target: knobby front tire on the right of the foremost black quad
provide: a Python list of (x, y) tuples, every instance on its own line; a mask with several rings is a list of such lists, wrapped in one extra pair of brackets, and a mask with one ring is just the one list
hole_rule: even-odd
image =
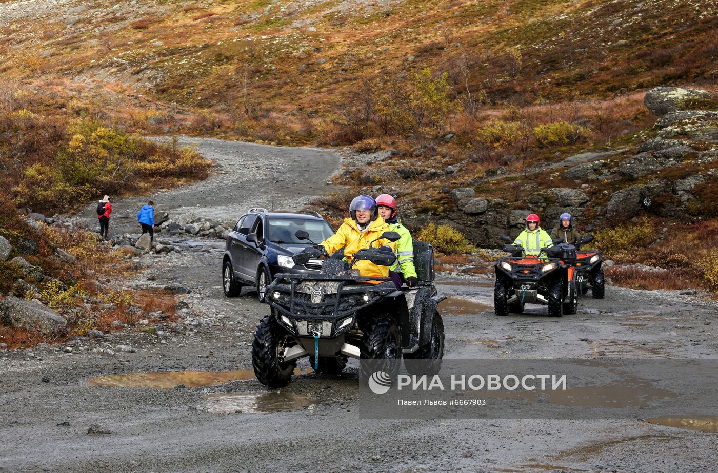
[[(373, 368), (378, 368), (391, 378), (396, 378), (401, 365), (401, 332), (396, 319), (382, 315), (371, 320), (364, 329), (364, 338), (360, 347), (362, 360), (385, 360)], [(360, 363), (362, 374), (368, 380), (374, 373), (366, 363)]]

